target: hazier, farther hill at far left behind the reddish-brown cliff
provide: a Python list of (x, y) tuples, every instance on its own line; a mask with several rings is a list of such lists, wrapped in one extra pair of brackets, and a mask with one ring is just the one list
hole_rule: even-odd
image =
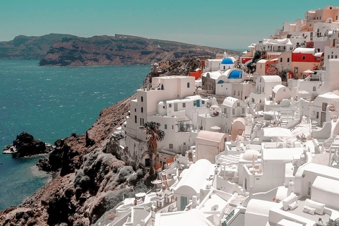
[(72, 35), (49, 34), (30, 37), (19, 35), (14, 40), (0, 42), (0, 59), (42, 59), (49, 47), (63, 37)]

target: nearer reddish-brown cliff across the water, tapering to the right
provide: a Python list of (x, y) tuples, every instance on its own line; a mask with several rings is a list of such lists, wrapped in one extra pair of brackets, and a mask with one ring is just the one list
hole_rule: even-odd
[[(40, 66), (154, 64), (190, 57), (215, 57), (224, 49), (129, 35), (68, 37), (56, 42)], [(227, 50), (229, 54), (239, 52)]]

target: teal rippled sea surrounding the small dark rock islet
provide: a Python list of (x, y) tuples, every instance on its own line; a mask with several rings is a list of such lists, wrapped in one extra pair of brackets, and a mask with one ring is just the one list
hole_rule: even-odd
[[(136, 93), (151, 66), (38, 66), (0, 60), (0, 150), (23, 131), (47, 143), (83, 134), (100, 110)], [(16, 206), (50, 177), (35, 163), (0, 153), (0, 210)]]

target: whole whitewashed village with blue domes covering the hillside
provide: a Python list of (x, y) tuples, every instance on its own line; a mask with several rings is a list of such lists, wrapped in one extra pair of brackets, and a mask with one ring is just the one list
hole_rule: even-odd
[[(310, 10), (242, 57), (153, 77), (112, 134), (150, 167), (108, 225), (326, 225), (339, 218), (339, 7)], [(153, 71), (157, 71), (157, 64)], [(146, 121), (165, 137), (150, 161)]]

